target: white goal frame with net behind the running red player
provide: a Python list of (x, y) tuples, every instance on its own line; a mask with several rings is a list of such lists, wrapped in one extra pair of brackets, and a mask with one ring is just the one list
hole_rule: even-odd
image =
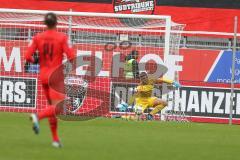
[[(24, 53), (33, 36), (45, 30), (42, 21), (48, 12), (0, 9), (1, 111), (39, 112), (47, 106), (39, 66), (25, 66)], [(126, 69), (131, 54), (136, 52), (138, 72), (146, 71), (155, 78), (167, 72), (168, 78), (177, 78), (178, 73), (169, 69), (168, 62), (178, 55), (184, 25), (172, 22), (170, 16), (54, 13), (58, 16), (57, 30), (69, 36), (77, 55), (76, 68), (63, 62), (66, 113), (120, 113), (119, 104), (128, 101), (139, 83)], [(74, 74), (69, 75), (71, 71)], [(153, 93), (159, 98), (161, 88), (156, 86)], [(131, 106), (127, 112), (133, 112)]]

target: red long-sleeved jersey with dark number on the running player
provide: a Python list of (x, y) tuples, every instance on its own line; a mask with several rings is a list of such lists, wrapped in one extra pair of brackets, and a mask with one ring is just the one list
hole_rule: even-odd
[(54, 70), (62, 65), (64, 53), (68, 59), (75, 57), (72, 48), (68, 45), (68, 37), (55, 29), (46, 30), (34, 36), (25, 58), (34, 62), (32, 55), (39, 52), (40, 78), (42, 83), (48, 83), (49, 77)]

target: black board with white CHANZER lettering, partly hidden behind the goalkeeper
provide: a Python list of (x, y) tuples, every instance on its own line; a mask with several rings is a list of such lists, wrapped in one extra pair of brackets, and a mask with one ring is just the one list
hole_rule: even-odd
[[(137, 83), (112, 83), (110, 111), (119, 112), (117, 106), (125, 103), (135, 93)], [(189, 116), (229, 117), (231, 90), (213, 87), (185, 86), (168, 93), (167, 110), (183, 111)], [(173, 97), (175, 95), (175, 97)], [(152, 96), (162, 97), (162, 87), (155, 86)], [(165, 98), (163, 98), (165, 99)], [(240, 90), (234, 93), (233, 117), (240, 117)], [(129, 112), (133, 106), (129, 106)]]

